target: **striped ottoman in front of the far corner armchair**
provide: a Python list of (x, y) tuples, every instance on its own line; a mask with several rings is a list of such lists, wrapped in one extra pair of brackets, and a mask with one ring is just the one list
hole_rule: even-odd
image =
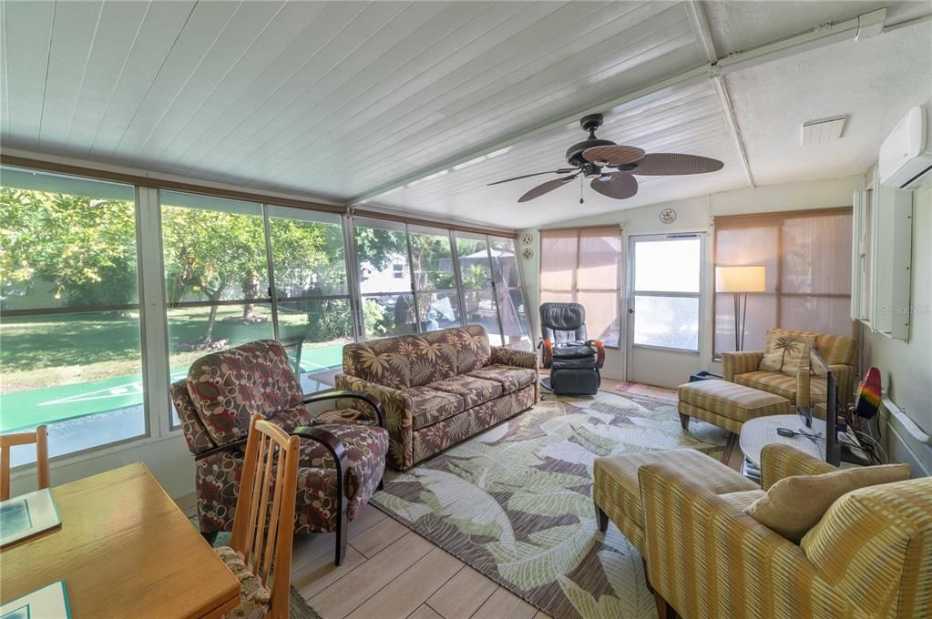
[(741, 424), (765, 415), (792, 415), (796, 407), (786, 398), (728, 381), (680, 384), (677, 390), (679, 423), (690, 429), (690, 417), (741, 433)]

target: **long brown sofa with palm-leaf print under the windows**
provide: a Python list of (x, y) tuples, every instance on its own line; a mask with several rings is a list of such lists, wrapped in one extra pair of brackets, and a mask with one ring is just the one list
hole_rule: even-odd
[(348, 343), (336, 388), (381, 400), (388, 463), (404, 470), (533, 406), (538, 363), (534, 353), (490, 346), (482, 326), (468, 325)]

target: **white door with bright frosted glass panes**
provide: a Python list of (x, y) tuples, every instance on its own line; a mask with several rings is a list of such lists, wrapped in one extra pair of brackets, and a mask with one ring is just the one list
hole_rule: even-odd
[(627, 380), (676, 387), (699, 370), (705, 235), (632, 235)]

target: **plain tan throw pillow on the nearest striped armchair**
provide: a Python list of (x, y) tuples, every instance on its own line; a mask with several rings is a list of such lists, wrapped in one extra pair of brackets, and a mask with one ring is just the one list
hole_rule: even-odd
[(818, 524), (831, 504), (850, 491), (910, 478), (909, 464), (861, 466), (823, 473), (797, 475), (777, 481), (744, 512), (773, 532), (799, 544)]

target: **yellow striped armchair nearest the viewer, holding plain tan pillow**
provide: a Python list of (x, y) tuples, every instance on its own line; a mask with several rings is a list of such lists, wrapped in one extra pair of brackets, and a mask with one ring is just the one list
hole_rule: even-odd
[(796, 545), (742, 509), (781, 478), (834, 468), (787, 445), (768, 445), (761, 460), (763, 490), (731, 494), (664, 464), (640, 468), (648, 579), (662, 612), (932, 616), (932, 478), (848, 492)]

